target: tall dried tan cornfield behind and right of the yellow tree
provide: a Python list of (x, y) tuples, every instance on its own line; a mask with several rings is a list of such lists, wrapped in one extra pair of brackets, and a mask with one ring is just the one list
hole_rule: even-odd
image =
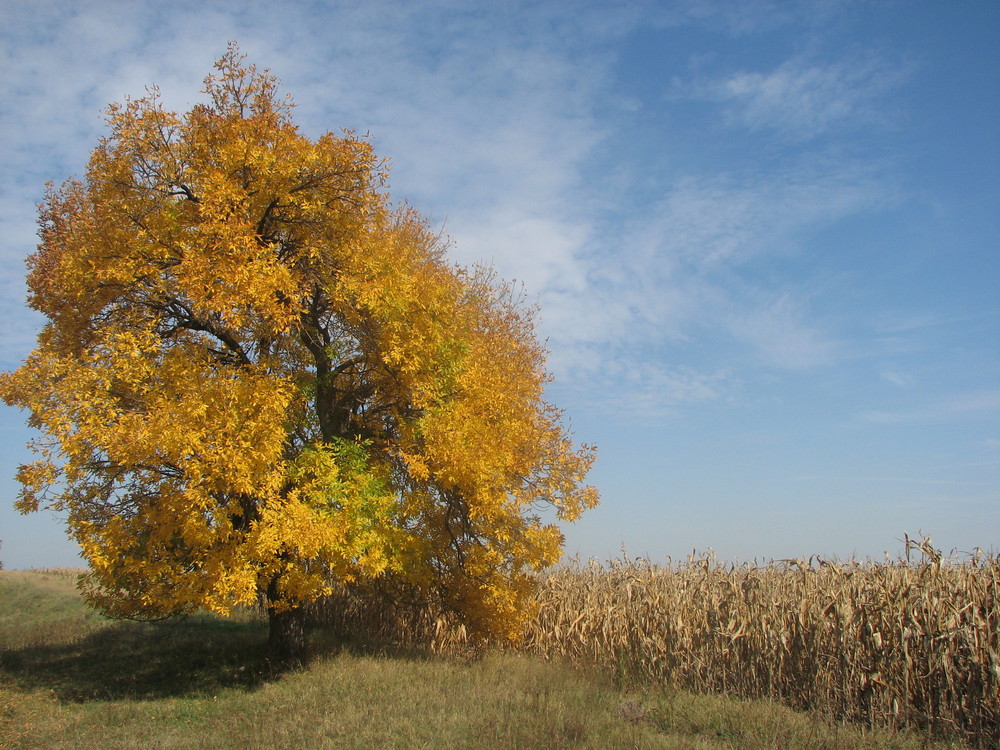
[[(914, 553), (917, 553), (914, 559)], [(521, 648), (628, 679), (770, 698), (1000, 747), (1000, 555), (906, 539), (883, 562), (712, 556), (571, 565), (539, 580)], [(453, 618), (342, 592), (316, 615), (374, 640), (468, 645)]]

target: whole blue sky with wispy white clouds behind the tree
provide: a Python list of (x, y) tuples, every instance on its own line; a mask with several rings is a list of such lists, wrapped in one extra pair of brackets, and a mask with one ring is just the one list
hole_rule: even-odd
[[(310, 137), (540, 307), (602, 503), (566, 553), (1000, 552), (1000, 3), (0, 2), (0, 370), (44, 184), (111, 102), (187, 111), (235, 40)], [(12, 508), (0, 561), (80, 565)]]

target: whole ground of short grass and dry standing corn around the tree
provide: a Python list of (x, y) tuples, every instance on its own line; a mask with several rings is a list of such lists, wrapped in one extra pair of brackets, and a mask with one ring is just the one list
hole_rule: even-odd
[(340, 599), (275, 674), (258, 613), (112, 623), (6, 571), (0, 747), (990, 747), (997, 587), (996, 558), (578, 565), (516, 652)]

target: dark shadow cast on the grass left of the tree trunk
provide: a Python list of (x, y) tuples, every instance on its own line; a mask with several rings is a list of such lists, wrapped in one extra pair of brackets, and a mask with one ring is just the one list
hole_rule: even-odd
[(0, 651), (0, 680), (67, 702), (211, 695), (280, 676), (266, 645), (265, 624), (212, 615), (111, 623), (71, 643)]

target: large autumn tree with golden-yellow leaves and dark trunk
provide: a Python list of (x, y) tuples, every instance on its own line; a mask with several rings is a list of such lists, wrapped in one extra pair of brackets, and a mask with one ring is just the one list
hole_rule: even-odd
[(352, 133), (316, 141), (231, 45), (181, 116), (108, 109), (49, 186), (47, 318), (0, 396), (40, 437), (17, 507), (65, 511), (88, 600), (159, 618), (266, 600), (272, 655), (335, 583), (435, 598), (511, 636), (594, 450), (548, 405), (534, 308), (446, 260)]

